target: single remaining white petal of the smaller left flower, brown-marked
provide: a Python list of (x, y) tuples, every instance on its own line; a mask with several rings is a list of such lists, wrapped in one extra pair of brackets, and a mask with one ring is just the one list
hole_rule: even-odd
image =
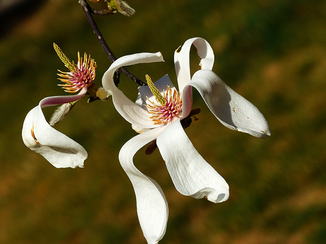
[(87, 152), (76, 141), (51, 127), (41, 108), (77, 101), (86, 91), (87, 88), (83, 88), (78, 95), (45, 97), (24, 120), (22, 140), (25, 145), (57, 168), (83, 167)]

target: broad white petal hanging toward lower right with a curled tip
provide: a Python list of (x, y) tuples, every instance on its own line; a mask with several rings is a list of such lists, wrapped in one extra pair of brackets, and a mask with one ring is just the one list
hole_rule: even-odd
[(213, 203), (228, 199), (226, 181), (196, 151), (176, 120), (156, 140), (176, 189), (196, 199), (206, 197)]

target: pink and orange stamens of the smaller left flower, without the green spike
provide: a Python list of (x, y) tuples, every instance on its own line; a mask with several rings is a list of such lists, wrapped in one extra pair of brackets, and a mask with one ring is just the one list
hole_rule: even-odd
[(70, 72), (60, 71), (62, 74), (58, 74), (60, 81), (66, 83), (62, 86), (66, 92), (77, 92), (83, 87), (89, 87), (95, 79), (96, 72), (96, 62), (94, 59), (87, 58), (86, 53), (84, 54), (84, 60), (80, 57), (78, 53), (78, 63), (73, 63), (74, 69), (69, 67)]

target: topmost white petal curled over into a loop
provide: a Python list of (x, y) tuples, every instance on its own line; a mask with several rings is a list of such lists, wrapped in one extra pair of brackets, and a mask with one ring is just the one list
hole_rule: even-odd
[(174, 66), (178, 79), (179, 91), (188, 85), (191, 80), (190, 77), (190, 62), (189, 54), (190, 48), (194, 45), (197, 50), (197, 55), (200, 58), (201, 69), (211, 69), (214, 64), (214, 52), (209, 43), (200, 37), (191, 38), (184, 42), (181, 50), (174, 53)]

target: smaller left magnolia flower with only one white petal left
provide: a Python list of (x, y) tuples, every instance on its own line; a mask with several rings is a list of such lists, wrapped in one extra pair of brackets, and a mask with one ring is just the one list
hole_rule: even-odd
[(83, 167), (84, 160), (87, 158), (86, 150), (76, 141), (55, 130), (46, 121), (42, 108), (48, 106), (61, 105), (54, 113), (50, 124), (54, 125), (60, 121), (64, 115), (72, 108), (81, 97), (83, 97), (87, 88), (92, 85), (95, 79), (96, 63), (94, 60), (84, 55), (82, 59), (78, 53), (77, 65), (70, 61), (54, 43), (55, 50), (69, 69), (69, 72), (58, 74), (65, 84), (62, 86), (66, 92), (77, 92), (77, 95), (51, 96), (41, 100), (26, 116), (22, 126), (22, 140), (31, 150), (42, 155), (53, 166), (57, 168), (77, 166)]

